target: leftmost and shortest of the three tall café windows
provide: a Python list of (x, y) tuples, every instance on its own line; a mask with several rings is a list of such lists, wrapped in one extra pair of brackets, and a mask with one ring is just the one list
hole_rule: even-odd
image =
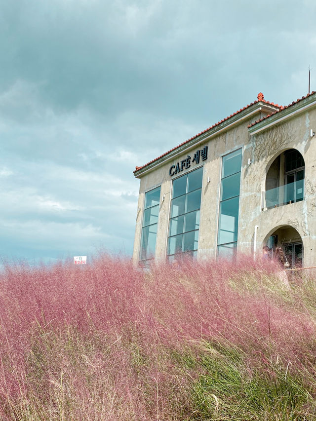
[(140, 260), (155, 257), (158, 215), (159, 215), (160, 187), (145, 193), (145, 207), (140, 245)]

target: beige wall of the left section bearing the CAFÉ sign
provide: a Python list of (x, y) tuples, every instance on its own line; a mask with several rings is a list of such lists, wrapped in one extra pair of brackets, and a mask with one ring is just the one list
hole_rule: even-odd
[[(260, 115), (258, 113), (258, 115), (255, 115), (252, 120), (259, 118), (259, 116)], [(252, 120), (249, 119), (243, 121), (242, 124), (235, 126), (231, 130), (215, 136), (209, 141), (193, 146), (191, 149), (177, 155), (173, 160), (170, 160), (157, 169), (150, 171), (141, 178), (138, 200), (138, 209), (140, 209), (140, 211), (137, 212), (133, 254), (133, 260), (135, 263), (139, 258), (145, 192), (161, 186), (155, 257), (157, 260), (164, 260), (167, 248), (172, 180), (199, 168), (201, 165), (204, 166), (204, 169), (201, 194), (198, 257), (214, 257), (216, 255), (222, 156), (239, 148), (244, 149), (245, 142), (248, 141), (247, 125)], [(200, 160), (198, 165), (191, 164), (190, 168), (187, 170), (184, 169), (181, 173), (174, 176), (169, 175), (171, 165), (175, 165), (177, 162), (185, 159), (188, 154), (193, 157), (194, 153), (198, 149), (203, 149), (204, 146), (208, 147), (207, 160)], [(245, 159), (248, 159), (247, 153), (245, 156)], [(207, 182), (208, 179), (209, 182)], [(163, 196), (164, 200), (162, 200)]]

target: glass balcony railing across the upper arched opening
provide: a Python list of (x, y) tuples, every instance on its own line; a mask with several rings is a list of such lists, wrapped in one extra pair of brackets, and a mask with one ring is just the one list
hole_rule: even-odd
[(288, 205), (304, 199), (304, 179), (266, 191), (266, 207)]

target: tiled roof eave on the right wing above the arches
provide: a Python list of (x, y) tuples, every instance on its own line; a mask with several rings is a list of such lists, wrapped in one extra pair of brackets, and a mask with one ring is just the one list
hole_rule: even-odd
[(275, 124), (280, 123), (281, 121), (294, 117), (308, 109), (316, 106), (316, 92), (313, 91), (310, 94), (298, 99), (292, 104), (289, 104), (286, 107), (283, 107), (280, 110), (276, 110), (274, 113), (263, 117), (261, 120), (255, 121), (254, 123), (248, 126), (248, 131), (250, 134), (254, 135), (263, 130), (268, 129)]

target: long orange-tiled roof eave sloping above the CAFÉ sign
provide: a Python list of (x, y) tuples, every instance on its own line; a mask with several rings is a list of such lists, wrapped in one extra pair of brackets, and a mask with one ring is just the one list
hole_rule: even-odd
[(149, 171), (152, 171), (154, 168), (164, 164), (165, 162), (172, 160), (175, 155), (178, 155), (179, 153), (185, 153), (186, 150), (191, 149), (193, 146), (204, 142), (211, 137), (217, 136), (226, 130), (229, 130), (231, 126), (240, 123), (241, 121), (259, 113), (260, 111), (271, 114), (278, 109), (279, 107), (277, 105), (269, 103), (268, 101), (256, 101), (244, 109), (238, 111), (237, 113), (225, 118), (221, 122), (214, 124), (209, 129), (198, 133), (196, 136), (183, 142), (170, 151), (158, 156), (158, 158), (154, 159), (153, 161), (143, 165), (142, 167), (136, 167), (134, 176), (136, 178), (140, 178), (141, 176), (145, 175), (145, 173), (148, 173)]

